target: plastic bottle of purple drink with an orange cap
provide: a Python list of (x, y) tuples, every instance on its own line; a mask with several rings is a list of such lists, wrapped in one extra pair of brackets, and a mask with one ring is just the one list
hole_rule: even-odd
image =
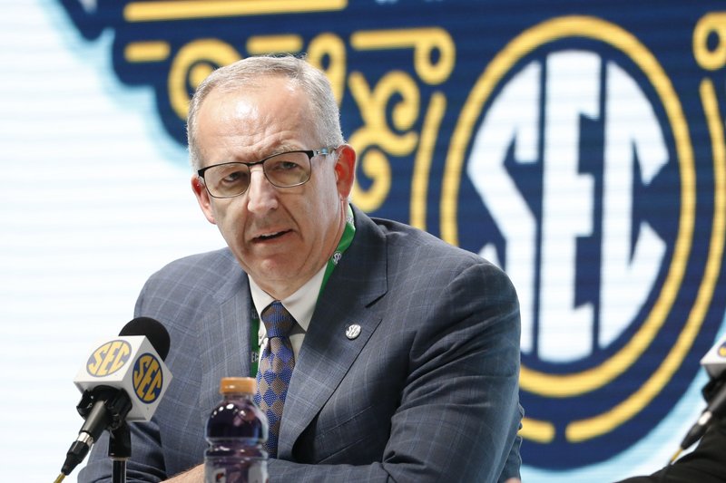
[(268, 421), (252, 400), (255, 391), (250, 377), (222, 378), (223, 399), (207, 420), (206, 483), (267, 483)]

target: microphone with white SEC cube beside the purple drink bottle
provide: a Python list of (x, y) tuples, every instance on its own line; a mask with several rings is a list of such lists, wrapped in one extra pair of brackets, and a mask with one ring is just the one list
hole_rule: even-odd
[(77, 410), (85, 422), (68, 449), (62, 475), (71, 474), (83, 461), (103, 430), (152, 419), (172, 381), (163, 362), (169, 345), (169, 333), (160, 322), (137, 317), (118, 337), (96, 346), (74, 379), (83, 392)]

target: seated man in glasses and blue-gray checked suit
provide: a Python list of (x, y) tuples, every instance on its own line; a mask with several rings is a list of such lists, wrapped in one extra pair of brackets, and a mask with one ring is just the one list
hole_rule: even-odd
[[(162, 268), (139, 296), (136, 315), (169, 330), (174, 379), (132, 424), (129, 480), (201, 481), (220, 379), (254, 377), (273, 301), (296, 324), (270, 481), (518, 477), (515, 289), (479, 256), (348, 204), (356, 154), (325, 75), (289, 56), (233, 63), (201, 84), (188, 130), (191, 187), (228, 247)], [(109, 478), (106, 448), (81, 481)]]

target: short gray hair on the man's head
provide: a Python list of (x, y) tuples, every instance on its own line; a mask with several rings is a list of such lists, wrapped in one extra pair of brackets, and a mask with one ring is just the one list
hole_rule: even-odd
[(292, 55), (248, 57), (211, 72), (191, 98), (187, 115), (187, 140), (191, 167), (194, 170), (201, 168), (201, 152), (196, 133), (197, 115), (204, 99), (216, 89), (231, 92), (245, 86), (259, 87), (264, 85), (265, 78), (274, 76), (287, 77), (297, 82), (302, 92), (307, 94), (310, 117), (315, 123), (320, 142), (326, 147), (337, 147), (345, 142), (340, 130), (338, 102), (323, 72), (303, 58)]

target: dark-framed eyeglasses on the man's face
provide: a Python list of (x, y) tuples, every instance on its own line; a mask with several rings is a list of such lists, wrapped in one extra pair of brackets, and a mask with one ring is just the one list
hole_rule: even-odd
[(265, 178), (278, 188), (292, 188), (310, 179), (310, 159), (320, 154), (330, 154), (335, 148), (319, 150), (295, 150), (274, 154), (252, 163), (229, 162), (215, 164), (197, 171), (204, 186), (213, 198), (238, 197), (250, 188), (250, 168), (262, 165)]

